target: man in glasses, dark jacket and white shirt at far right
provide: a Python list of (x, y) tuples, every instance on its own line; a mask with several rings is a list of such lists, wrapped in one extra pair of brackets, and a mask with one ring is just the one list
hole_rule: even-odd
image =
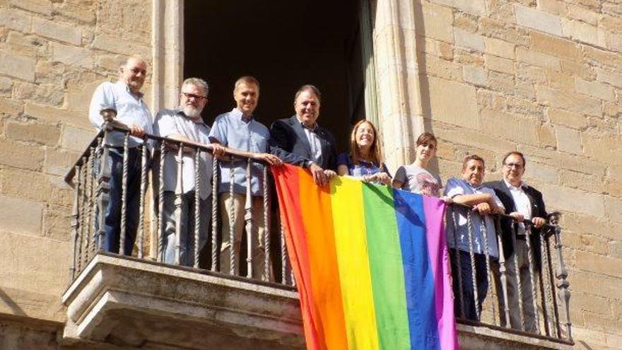
[[(518, 279), (520, 278), (524, 330), (535, 333), (537, 332), (537, 325), (533, 291), (534, 284), (538, 283), (537, 272), (541, 268), (540, 234), (542, 226), (546, 224), (547, 214), (542, 194), (534, 187), (522, 182), (524, 170), (525, 160), (522, 153), (517, 151), (507, 153), (503, 158), (503, 180), (487, 182), (484, 185), (495, 190), (495, 194), (505, 207), (505, 214), (514, 218), (514, 220), (502, 218), (500, 222), (503, 256), (505, 257), (507, 272), (510, 325), (515, 329), (523, 329), (518, 303)], [(532, 248), (532, 262), (535, 272), (534, 284), (532, 284), (532, 276), (529, 272), (529, 249), (523, 220), (531, 221), (533, 226), (529, 243)], [(503, 293), (500, 293), (500, 296), (503, 296)], [(502, 297), (500, 298), (503, 300)], [(502, 325), (505, 324), (505, 315), (503, 315), (501, 323)]]

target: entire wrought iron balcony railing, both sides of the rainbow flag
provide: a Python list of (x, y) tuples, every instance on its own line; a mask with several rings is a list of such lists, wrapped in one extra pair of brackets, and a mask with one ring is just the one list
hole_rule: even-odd
[[(128, 177), (128, 151), (129, 151), (129, 129), (125, 127), (118, 127), (113, 124), (105, 124), (105, 127), (99, 132), (93, 141), (88, 145), (84, 153), (78, 158), (75, 165), (65, 177), (65, 181), (74, 187), (74, 206), (71, 213), (71, 237), (72, 237), (72, 259), (71, 267), (69, 271), (69, 277), (71, 281), (74, 281), (78, 274), (86, 267), (90, 259), (92, 259), (98, 251), (102, 249), (103, 240), (105, 238), (104, 231), (104, 215), (103, 213), (110, 202), (110, 167), (107, 166), (109, 161), (110, 147), (104, 142), (106, 134), (110, 132), (122, 132), (124, 133), (124, 150), (123, 150), (123, 181), (122, 181), (122, 218), (121, 218), (121, 230), (119, 235), (119, 254), (124, 254), (125, 239), (127, 236), (126, 226), (126, 212), (127, 212), (127, 177)], [(153, 136), (146, 134), (143, 136), (143, 143), (138, 146), (141, 155), (141, 174), (140, 174), (140, 199), (139, 199), (139, 225), (136, 233), (136, 243), (132, 251), (132, 255), (138, 259), (153, 259), (159, 262), (163, 262), (163, 239), (165, 237), (164, 225), (163, 225), (163, 205), (164, 205), (164, 187), (165, 177), (162, 170), (165, 167), (165, 155), (169, 152), (177, 152), (177, 183), (175, 184), (175, 218), (177, 227), (175, 228), (177, 235), (175, 236), (175, 259), (174, 264), (182, 263), (180, 259), (180, 214), (182, 209), (182, 171), (184, 162), (184, 152), (194, 153), (194, 162), (199, 164), (199, 157), (201, 153), (212, 153), (212, 148), (203, 144), (196, 144), (187, 141), (177, 141), (174, 139), (168, 139), (160, 136)], [(176, 148), (176, 149), (175, 149)], [(153, 156), (153, 159), (150, 158)], [(218, 184), (219, 184), (219, 172), (218, 164), (221, 162), (230, 161), (243, 161), (245, 163), (245, 180), (249, 184), (246, 186), (246, 202), (245, 202), (245, 231), (247, 233), (252, 232), (252, 193), (251, 193), (251, 180), (252, 180), (252, 164), (260, 163), (250, 158), (250, 153), (236, 151), (233, 149), (225, 148), (225, 156), (221, 158), (213, 158), (213, 178), (212, 183), (207, 184), (204, 179), (201, 178), (201, 171), (199, 166), (195, 166), (194, 170), (194, 191), (199, 194), (200, 189), (204, 185), (211, 185), (212, 187), (212, 199), (211, 199), (211, 250), (209, 251), (210, 262), (208, 265), (201, 266), (199, 259), (199, 235), (201, 235), (200, 222), (196, 222), (194, 225), (194, 246), (192, 247), (192, 264), (190, 267), (202, 268), (209, 270), (213, 273), (220, 273), (225, 275), (235, 274), (235, 265), (240, 264), (245, 266), (246, 273), (245, 278), (254, 279), (260, 281), (276, 281), (278, 284), (287, 286), (294, 286), (295, 281), (291, 269), (288, 267), (288, 257), (286, 246), (283, 239), (283, 230), (278, 218), (278, 209), (271, 207), (271, 193), (269, 186), (269, 174), (267, 166), (262, 168), (262, 202), (264, 216), (264, 258), (262, 262), (262, 271), (260, 276), (257, 272), (253, 274), (253, 250), (252, 250), (252, 235), (246, 235), (246, 259), (242, 261), (240, 257), (236, 256), (235, 249), (230, 249), (230, 255), (228, 256), (228, 271), (221, 271), (220, 259), (223, 259), (219, 250), (221, 249), (221, 243), (225, 235), (228, 235), (230, 243), (234, 241), (233, 223), (230, 225), (230, 231), (228, 233), (221, 232), (218, 221)], [(159, 165), (159, 166), (158, 166)], [(230, 167), (232, 169), (232, 167)], [(233, 170), (231, 170), (233, 171)], [(151, 183), (153, 191), (151, 191), (152, 200), (148, 201), (148, 188), (149, 188), (149, 175), (151, 175)], [(232, 174), (230, 174), (232, 175)], [(233, 176), (231, 176), (233, 177)], [(230, 181), (229, 194), (233, 197), (234, 187), (233, 180)], [(199, 214), (200, 208), (200, 196), (195, 195), (194, 203), (194, 216), (196, 221), (201, 220)], [(153, 205), (148, 205), (151, 202)], [(233, 203), (233, 201), (232, 201)], [(457, 211), (462, 204), (452, 204), (448, 209), (450, 211), (449, 219), (446, 225), (453, 225), (457, 228), (456, 216), (454, 211)], [(472, 221), (474, 216), (479, 216), (468, 206), (463, 206), (462, 209), (468, 209), (464, 211), (467, 216), (468, 236), (469, 236), (469, 251), (465, 252), (470, 260), (472, 273), (472, 284), (468, 286), (462, 283), (462, 276), (458, 272), (454, 272), (454, 284), (459, 286), (459, 292), (455, 296), (456, 302), (459, 303), (457, 307), (457, 321), (467, 325), (486, 326), (503, 330), (504, 332), (513, 332), (517, 334), (527, 335), (528, 337), (538, 337), (541, 339), (554, 340), (556, 342), (563, 342), (573, 344), (570, 313), (569, 313), (569, 299), (570, 291), (568, 290), (568, 271), (565, 268), (563, 261), (562, 243), (561, 243), (561, 228), (558, 226), (558, 213), (551, 214), (549, 218), (549, 224), (539, 231), (539, 245), (541, 246), (541, 268), (536, 269), (534, 266), (534, 256), (532, 256), (532, 241), (530, 236), (532, 233), (532, 223), (524, 221), (525, 234), (527, 235), (526, 243), (528, 245), (528, 264), (529, 264), (529, 284), (532, 288), (523, 291), (522, 284), (526, 284), (527, 281), (522, 281), (520, 274), (517, 274), (516, 284), (517, 288), (517, 305), (519, 310), (512, 310), (512, 300), (507, 293), (507, 285), (514, 278), (507, 274), (507, 264), (503, 254), (503, 241), (499, 239), (499, 222), (500, 219), (510, 218), (509, 216), (495, 214), (495, 232), (486, 232), (486, 226), (482, 228), (482, 233), (485, 237), (483, 240), (483, 255), (486, 266), (486, 281), (488, 282), (488, 293), (486, 301), (481, 307), (477, 307), (475, 319), (464, 317), (464, 288), (473, 288), (474, 300), (478, 300), (478, 288), (476, 285), (476, 253), (474, 251), (474, 237)], [(233, 221), (233, 208), (230, 208), (230, 221)], [(151, 217), (147, 218), (147, 214), (151, 213)], [(273, 215), (276, 214), (276, 215)], [(483, 222), (483, 220), (480, 220)], [(147, 223), (151, 227), (151, 230), (147, 229)], [(514, 229), (515, 226), (512, 226)], [(272, 232), (276, 231), (275, 236)], [(457, 230), (456, 230), (457, 232)], [(491, 256), (491, 247), (488, 246), (488, 235), (494, 235), (496, 242), (498, 243), (498, 259)], [(277, 242), (274, 244), (274, 242)], [(450, 247), (457, 247), (456, 242)], [(553, 261), (553, 250), (555, 250), (556, 261)], [(271, 251), (271, 246), (277, 247), (275, 252)], [(450, 249), (451, 250), (451, 249)], [(208, 254), (208, 252), (204, 252)], [(460, 254), (451, 254), (456, 266), (460, 266)], [(274, 259), (273, 259), (274, 258)], [(510, 256), (513, 259), (513, 264), (517, 265), (517, 254)], [(244, 264), (245, 262), (245, 264)], [(243, 269), (242, 269), (243, 270)], [(524, 298), (524, 293), (530, 293), (532, 298)], [(529, 308), (534, 310), (534, 315), (528, 315), (528, 317), (535, 317), (536, 329), (526, 329), (526, 315), (524, 309), (524, 300), (530, 300), (532, 305)], [(561, 305), (560, 305), (561, 304)], [(560, 310), (562, 313), (560, 314)], [(520, 315), (520, 324), (512, 325), (510, 322), (511, 313), (518, 312)], [(540, 317), (541, 316), (541, 317)]]

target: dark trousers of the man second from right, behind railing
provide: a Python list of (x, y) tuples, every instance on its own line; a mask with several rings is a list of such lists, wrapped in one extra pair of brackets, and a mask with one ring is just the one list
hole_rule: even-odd
[[(456, 254), (459, 252), (459, 255)], [(479, 321), (477, 310), (481, 310), (481, 305), (488, 293), (488, 275), (486, 274), (486, 255), (475, 255), (475, 275), (477, 289), (477, 305), (475, 305), (475, 293), (473, 286), (473, 274), (471, 273), (471, 254), (464, 250), (450, 249), (450, 260), (452, 262), (452, 286), (454, 290), (454, 313), (456, 317), (461, 317), (460, 308), (464, 310), (464, 318), (467, 320)], [(459, 262), (458, 262), (459, 257)], [(491, 257), (491, 259), (493, 259)], [(460, 277), (458, 277), (458, 269)], [(462, 281), (462, 297), (460, 296), (459, 283)], [(464, 305), (462, 305), (464, 301)]]

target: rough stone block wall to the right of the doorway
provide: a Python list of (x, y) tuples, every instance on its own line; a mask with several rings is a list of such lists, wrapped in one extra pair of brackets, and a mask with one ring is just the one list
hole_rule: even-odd
[(527, 181), (563, 212), (578, 349), (622, 348), (622, 4), (415, 1), (426, 124), (443, 177), (462, 158), (527, 156)]

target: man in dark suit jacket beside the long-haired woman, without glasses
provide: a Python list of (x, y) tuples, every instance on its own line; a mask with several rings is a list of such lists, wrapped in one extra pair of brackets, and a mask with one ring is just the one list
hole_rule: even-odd
[(321, 98), (315, 86), (300, 87), (294, 100), (296, 114), (277, 120), (270, 129), (271, 153), (285, 163), (308, 168), (320, 186), (336, 175), (337, 168), (334, 137), (316, 122)]

